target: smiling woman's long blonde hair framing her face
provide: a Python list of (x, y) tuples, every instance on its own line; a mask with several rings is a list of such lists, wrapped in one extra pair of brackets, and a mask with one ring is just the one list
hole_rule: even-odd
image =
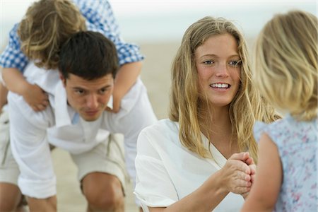
[[(206, 116), (206, 112), (201, 110), (202, 98), (199, 98), (194, 52), (209, 37), (225, 33), (235, 37), (238, 54), (242, 60), (240, 88), (230, 103), (229, 109), (232, 140), (237, 141), (240, 151), (249, 151), (257, 161), (258, 147), (252, 132), (255, 119), (272, 122), (276, 117), (273, 108), (261, 99), (254, 88), (245, 40), (229, 20), (205, 17), (193, 23), (184, 33), (181, 46), (172, 64), (169, 117), (172, 121), (179, 122), (179, 139), (183, 146), (201, 157), (211, 157), (211, 153), (204, 148), (201, 139), (204, 126), (200, 123), (200, 119)], [(211, 117), (205, 117), (205, 119), (209, 118)]]

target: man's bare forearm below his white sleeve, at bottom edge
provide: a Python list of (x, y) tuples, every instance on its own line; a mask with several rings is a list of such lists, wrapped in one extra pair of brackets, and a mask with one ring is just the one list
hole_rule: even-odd
[(30, 211), (57, 211), (57, 196), (50, 196), (47, 199), (36, 199), (28, 196)]

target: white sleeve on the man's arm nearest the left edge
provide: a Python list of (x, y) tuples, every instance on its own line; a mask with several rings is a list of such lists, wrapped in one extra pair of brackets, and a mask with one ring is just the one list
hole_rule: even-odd
[(54, 118), (51, 107), (34, 112), (21, 96), (9, 93), (8, 110), (11, 151), (20, 170), (21, 192), (35, 199), (54, 197), (56, 177), (47, 141), (47, 129)]

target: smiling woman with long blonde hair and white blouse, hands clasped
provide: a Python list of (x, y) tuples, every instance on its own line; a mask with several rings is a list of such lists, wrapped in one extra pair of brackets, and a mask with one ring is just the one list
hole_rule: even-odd
[(276, 119), (251, 81), (245, 39), (224, 18), (184, 33), (170, 119), (141, 131), (135, 194), (144, 211), (238, 211), (252, 185), (255, 118)]

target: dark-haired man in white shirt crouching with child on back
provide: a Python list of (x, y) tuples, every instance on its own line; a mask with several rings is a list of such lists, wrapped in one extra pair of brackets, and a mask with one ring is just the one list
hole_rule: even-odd
[(49, 144), (71, 153), (88, 211), (124, 211), (124, 159), (109, 135), (122, 133), (126, 147), (136, 146), (139, 132), (155, 122), (155, 114), (139, 80), (118, 113), (105, 111), (117, 70), (113, 43), (100, 33), (80, 32), (61, 47), (59, 71), (34, 64), (25, 70), (28, 81), (48, 94), (47, 109), (35, 112), (20, 95), (9, 92), (11, 151), (30, 211), (57, 209)]

